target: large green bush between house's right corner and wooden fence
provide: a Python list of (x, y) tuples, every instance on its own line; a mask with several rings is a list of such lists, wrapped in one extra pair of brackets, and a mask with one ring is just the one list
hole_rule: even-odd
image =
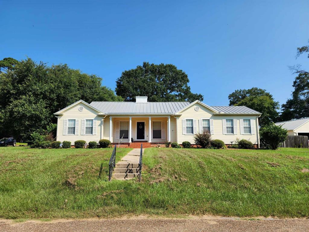
[(287, 130), (270, 123), (260, 128), (261, 147), (276, 150), (287, 138)]

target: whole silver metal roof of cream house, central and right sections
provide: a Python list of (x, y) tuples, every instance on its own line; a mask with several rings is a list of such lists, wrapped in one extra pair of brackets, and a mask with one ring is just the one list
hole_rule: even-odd
[[(147, 102), (93, 101), (91, 106), (105, 114), (175, 114), (190, 105), (190, 102)], [(212, 106), (225, 114), (260, 114), (246, 106)]]

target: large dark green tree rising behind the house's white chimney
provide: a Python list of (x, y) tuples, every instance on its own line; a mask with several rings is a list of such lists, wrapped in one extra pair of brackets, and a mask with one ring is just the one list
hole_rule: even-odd
[(192, 93), (188, 75), (172, 64), (149, 64), (122, 72), (116, 80), (116, 94), (125, 101), (147, 96), (149, 101), (203, 101), (201, 94)]

